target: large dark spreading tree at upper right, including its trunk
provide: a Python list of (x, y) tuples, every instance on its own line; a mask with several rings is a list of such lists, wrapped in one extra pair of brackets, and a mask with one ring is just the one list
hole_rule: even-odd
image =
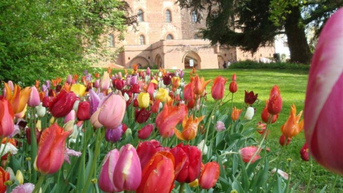
[[(316, 40), (323, 23), (343, 6), (343, 0), (178, 0), (182, 8), (206, 19), (203, 37), (212, 44), (237, 46), (256, 52), (286, 34), (292, 62), (308, 64), (311, 50), (306, 29)], [(211, 14), (216, 11), (216, 17)], [(202, 18), (204, 11), (207, 17)]]

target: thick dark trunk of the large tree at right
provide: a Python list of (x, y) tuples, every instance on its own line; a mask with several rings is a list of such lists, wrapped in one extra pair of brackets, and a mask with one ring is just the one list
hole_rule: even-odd
[(291, 7), (286, 16), (285, 31), (288, 39), (290, 60), (292, 62), (310, 64), (311, 52), (307, 42), (305, 27), (299, 25), (301, 13), (299, 7)]

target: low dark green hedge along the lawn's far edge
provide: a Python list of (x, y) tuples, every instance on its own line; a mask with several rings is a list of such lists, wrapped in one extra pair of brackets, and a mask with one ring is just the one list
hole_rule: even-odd
[(251, 60), (239, 61), (232, 63), (230, 69), (289, 69), (289, 70), (309, 70), (310, 65), (297, 64), (297, 63), (260, 63)]

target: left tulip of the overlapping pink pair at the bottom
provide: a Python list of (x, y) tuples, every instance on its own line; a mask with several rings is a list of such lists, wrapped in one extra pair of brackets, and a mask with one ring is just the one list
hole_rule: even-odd
[(119, 151), (113, 149), (109, 151), (104, 159), (104, 162), (101, 167), (101, 172), (99, 175), (99, 187), (101, 190), (106, 192), (119, 192), (122, 189), (115, 187), (113, 182), (113, 173), (115, 166), (118, 163)]

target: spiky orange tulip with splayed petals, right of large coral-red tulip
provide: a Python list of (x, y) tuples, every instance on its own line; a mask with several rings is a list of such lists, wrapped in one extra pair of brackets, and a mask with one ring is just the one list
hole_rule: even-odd
[(180, 140), (193, 140), (196, 137), (196, 134), (198, 132), (198, 125), (201, 122), (201, 120), (204, 118), (204, 116), (200, 118), (195, 118), (193, 120), (193, 115), (191, 117), (186, 116), (185, 119), (182, 121), (182, 133), (177, 130), (176, 128), (174, 129), (175, 135), (180, 139)]

